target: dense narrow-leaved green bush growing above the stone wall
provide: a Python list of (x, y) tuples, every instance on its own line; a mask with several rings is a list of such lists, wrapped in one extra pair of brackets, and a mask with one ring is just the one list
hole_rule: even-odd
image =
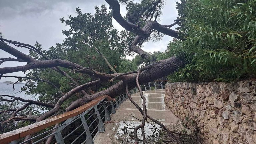
[(235, 80), (256, 76), (256, 1), (182, 0), (177, 28), (186, 40), (169, 43), (166, 55), (187, 62), (173, 81)]

